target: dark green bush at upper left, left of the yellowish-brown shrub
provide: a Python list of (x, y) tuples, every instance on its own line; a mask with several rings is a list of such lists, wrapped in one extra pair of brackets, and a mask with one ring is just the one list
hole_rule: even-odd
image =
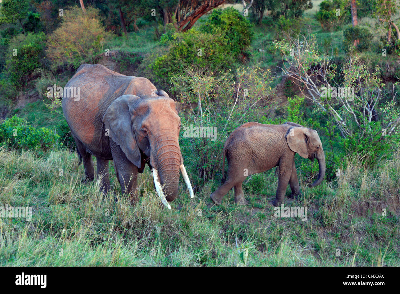
[(20, 34), (8, 45), (8, 59), (3, 78), (15, 86), (26, 85), (32, 79), (32, 72), (45, 63), (44, 48), (46, 36), (39, 34)]

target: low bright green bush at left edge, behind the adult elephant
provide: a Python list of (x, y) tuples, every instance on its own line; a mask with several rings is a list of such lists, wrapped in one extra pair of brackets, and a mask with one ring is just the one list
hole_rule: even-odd
[(26, 120), (12, 116), (0, 124), (0, 146), (46, 152), (58, 145), (60, 136), (48, 128), (34, 128)]

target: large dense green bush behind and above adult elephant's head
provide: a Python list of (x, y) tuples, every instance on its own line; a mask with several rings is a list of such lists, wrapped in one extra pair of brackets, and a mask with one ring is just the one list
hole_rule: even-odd
[[(168, 30), (161, 38), (168, 51), (148, 65), (148, 74), (157, 84), (166, 86), (171, 74), (183, 74), (193, 66), (215, 73), (227, 70), (245, 54), (252, 38), (251, 24), (236, 10), (214, 10), (209, 22), (200, 30)], [(150, 57), (152, 58), (152, 57)]]

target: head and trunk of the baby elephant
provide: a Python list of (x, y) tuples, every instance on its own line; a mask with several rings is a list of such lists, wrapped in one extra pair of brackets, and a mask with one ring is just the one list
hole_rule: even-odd
[(289, 148), (298, 153), (301, 157), (308, 158), (312, 161), (314, 161), (315, 158), (318, 160), (318, 178), (310, 184), (310, 187), (321, 184), (325, 176), (325, 154), (318, 133), (310, 128), (294, 126), (290, 128), (288, 134), (286, 134), (286, 140)]

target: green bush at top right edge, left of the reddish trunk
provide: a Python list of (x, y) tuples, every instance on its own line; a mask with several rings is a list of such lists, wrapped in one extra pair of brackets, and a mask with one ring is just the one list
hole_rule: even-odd
[(326, 31), (338, 30), (345, 22), (351, 19), (346, 0), (324, 0), (320, 3), (320, 10), (315, 14), (322, 29)]

